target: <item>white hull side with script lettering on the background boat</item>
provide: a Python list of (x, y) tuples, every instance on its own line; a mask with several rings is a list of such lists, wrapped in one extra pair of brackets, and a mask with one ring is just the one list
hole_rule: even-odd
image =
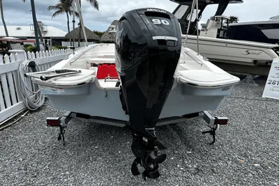
[[(185, 35), (182, 40), (184, 42)], [(188, 36), (186, 46), (197, 52), (197, 36)], [(273, 50), (278, 50), (278, 47), (265, 43), (199, 37), (199, 53), (209, 61), (218, 63), (266, 65), (278, 57)]]

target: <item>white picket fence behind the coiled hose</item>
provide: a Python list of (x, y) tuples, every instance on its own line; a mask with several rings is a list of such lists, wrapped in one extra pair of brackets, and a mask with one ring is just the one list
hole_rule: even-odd
[(55, 49), (36, 52), (36, 54), (20, 52), (10, 56), (6, 54), (4, 60), (0, 55), (0, 123), (25, 109), (17, 86), (17, 69), (20, 62), (24, 59), (35, 61), (43, 71), (70, 55), (71, 52), (71, 49)]

